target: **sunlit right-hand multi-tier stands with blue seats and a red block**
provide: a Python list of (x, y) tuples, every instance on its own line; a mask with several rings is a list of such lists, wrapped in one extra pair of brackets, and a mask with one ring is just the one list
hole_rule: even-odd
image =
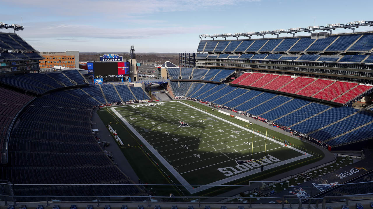
[(167, 68), (173, 96), (242, 111), (329, 149), (373, 138), (373, 108), (351, 107), (372, 102), (373, 32), (262, 33), (201, 35), (196, 68)]

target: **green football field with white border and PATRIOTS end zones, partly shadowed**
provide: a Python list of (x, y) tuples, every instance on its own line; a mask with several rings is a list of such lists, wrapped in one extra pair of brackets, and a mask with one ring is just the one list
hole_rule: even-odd
[(180, 101), (110, 109), (190, 193), (312, 157)]

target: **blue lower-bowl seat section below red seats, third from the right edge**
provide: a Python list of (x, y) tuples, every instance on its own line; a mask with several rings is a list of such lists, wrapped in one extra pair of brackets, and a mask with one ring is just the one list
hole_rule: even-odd
[(316, 131), (317, 129), (322, 128), (337, 120), (340, 120), (348, 115), (351, 115), (352, 113), (355, 113), (357, 111), (357, 109), (353, 109), (350, 107), (332, 107), (331, 109), (326, 110), (325, 112), (314, 116), (313, 118), (292, 126), (292, 128), (302, 133), (309, 133), (312, 131)]

